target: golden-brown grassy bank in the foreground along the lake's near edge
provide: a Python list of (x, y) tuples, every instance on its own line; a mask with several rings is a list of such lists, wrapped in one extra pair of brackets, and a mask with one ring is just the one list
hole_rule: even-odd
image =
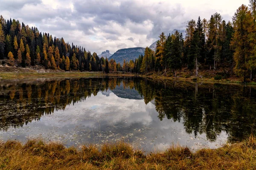
[(187, 147), (170, 147), (163, 153), (144, 154), (129, 144), (104, 144), (100, 151), (94, 147), (66, 148), (58, 143), (30, 140), (0, 143), (0, 168), (84, 169), (84, 170), (253, 170), (256, 167), (256, 140), (225, 145), (218, 149), (202, 149), (195, 153)]

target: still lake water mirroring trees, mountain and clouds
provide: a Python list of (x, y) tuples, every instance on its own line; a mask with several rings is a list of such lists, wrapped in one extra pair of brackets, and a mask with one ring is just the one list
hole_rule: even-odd
[(0, 82), (0, 140), (124, 140), (147, 152), (220, 147), (255, 133), (256, 88), (130, 78)]

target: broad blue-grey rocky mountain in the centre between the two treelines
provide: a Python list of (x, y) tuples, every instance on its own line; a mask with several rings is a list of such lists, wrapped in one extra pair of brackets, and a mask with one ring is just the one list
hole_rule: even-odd
[(139, 55), (144, 55), (145, 48), (143, 47), (135, 47), (135, 48), (124, 48), (116, 51), (110, 59), (116, 60), (116, 63), (120, 62), (120, 64), (123, 63), (124, 59), (125, 61), (130, 61), (131, 59), (135, 60), (139, 57)]

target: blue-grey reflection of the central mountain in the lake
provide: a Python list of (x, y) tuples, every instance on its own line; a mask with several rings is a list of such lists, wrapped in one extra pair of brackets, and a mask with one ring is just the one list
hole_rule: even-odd
[(135, 90), (134, 88), (130, 89), (130, 88), (124, 88), (123, 83), (120, 84), (120, 86), (116, 86), (116, 88), (114, 90), (112, 90), (112, 92), (120, 97), (120, 98), (124, 98), (124, 99), (135, 99), (135, 100), (141, 100), (144, 99), (144, 96), (141, 96), (139, 94), (139, 92), (137, 90)]

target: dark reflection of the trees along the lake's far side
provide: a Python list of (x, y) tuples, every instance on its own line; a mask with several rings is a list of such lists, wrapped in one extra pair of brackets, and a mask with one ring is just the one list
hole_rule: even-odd
[[(186, 133), (206, 133), (214, 141), (221, 131), (230, 141), (242, 140), (251, 133), (256, 117), (254, 88), (219, 84), (152, 81), (139, 78), (62, 79), (0, 86), (0, 128), (23, 126), (44, 114), (64, 110), (99, 91), (114, 90), (122, 84), (135, 89), (145, 104), (153, 102), (158, 118), (173, 119)], [(9, 95), (9, 97), (7, 97)]]

